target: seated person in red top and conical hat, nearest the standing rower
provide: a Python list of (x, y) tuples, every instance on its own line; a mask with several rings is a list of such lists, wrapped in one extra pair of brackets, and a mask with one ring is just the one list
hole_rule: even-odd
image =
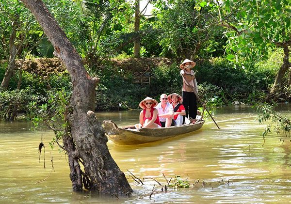
[(170, 94), (168, 95), (169, 103), (172, 103), (174, 109), (174, 116), (173, 120), (175, 121), (176, 125), (179, 126), (185, 123), (185, 107), (183, 106), (183, 98), (179, 94)]

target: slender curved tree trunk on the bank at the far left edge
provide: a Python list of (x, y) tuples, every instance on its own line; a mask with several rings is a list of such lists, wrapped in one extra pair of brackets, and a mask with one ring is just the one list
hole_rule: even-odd
[(8, 89), (10, 78), (15, 69), (15, 57), (16, 57), (16, 46), (15, 46), (15, 39), (16, 39), (16, 29), (18, 27), (18, 22), (14, 21), (12, 26), (12, 32), (9, 38), (9, 63), (4, 75), (4, 78), (1, 83), (2, 89)]

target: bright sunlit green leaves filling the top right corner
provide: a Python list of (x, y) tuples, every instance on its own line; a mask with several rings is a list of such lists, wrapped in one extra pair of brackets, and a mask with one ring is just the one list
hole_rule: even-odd
[[(220, 25), (228, 28), (227, 52), (250, 59), (266, 57), (269, 48), (290, 40), (290, 0), (210, 1)], [(228, 55), (234, 60), (234, 55)]]

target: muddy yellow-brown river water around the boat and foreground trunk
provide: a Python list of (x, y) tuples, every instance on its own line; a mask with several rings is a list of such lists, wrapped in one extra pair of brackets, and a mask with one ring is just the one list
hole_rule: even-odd
[[(280, 107), (291, 114), (290, 105)], [(137, 123), (138, 111), (97, 113), (100, 121), (111, 119), (117, 125)], [(291, 203), (291, 145), (272, 134), (262, 146), (255, 110), (250, 107), (222, 108), (202, 130), (175, 139), (135, 146), (115, 145), (108, 141), (112, 157), (128, 177), (129, 170), (139, 178), (151, 177), (163, 185), (162, 173), (169, 179), (175, 174), (187, 178), (188, 189), (168, 189), (149, 194), (155, 184), (145, 185), (132, 178), (130, 198), (74, 193), (64, 155), (49, 148), (52, 132), (42, 135), (46, 146), (39, 162), (41, 132), (30, 131), (28, 122), (0, 123), (0, 203)], [(51, 158), (54, 170), (52, 171)], [(51, 172), (51, 174), (50, 174)], [(38, 181), (44, 182), (36, 184)], [(197, 182), (199, 180), (199, 182)], [(204, 185), (203, 185), (204, 182)]]

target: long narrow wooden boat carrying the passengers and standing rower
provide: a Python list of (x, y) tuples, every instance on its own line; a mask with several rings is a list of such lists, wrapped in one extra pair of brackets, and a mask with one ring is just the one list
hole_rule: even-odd
[(140, 128), (134, 126), (118, 127), (111, 120), (104, 120), (104, 129), (107, 137), (116, 144), (143, 144), (152, 141), (160, 141), (177, 135), (193, 132), (200, 129), (204, 121), (194, 124), (162, 128)]

